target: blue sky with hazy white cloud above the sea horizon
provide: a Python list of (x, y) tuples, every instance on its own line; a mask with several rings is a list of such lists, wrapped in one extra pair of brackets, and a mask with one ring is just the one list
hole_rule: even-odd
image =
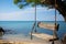
[[(57, 12), (57, 21), (64, 21), (62, 14)], [(35, 8), (25, 7), (20, 9), (13, 3), (13, 0), (0, 0), (0, 21), (34, 21)], [(36, 7), (37, 21), (54, 21), (55, 9), (47, 9), (45, 7)]]

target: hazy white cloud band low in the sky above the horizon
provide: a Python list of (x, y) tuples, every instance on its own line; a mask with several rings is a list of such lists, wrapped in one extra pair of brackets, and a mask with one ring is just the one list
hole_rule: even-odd
[[(40, 21), (53, 21), (54, 20), (54, 9), (47, 10), (47, 8), (37, 8), (37, 20)], [(52, 15), (51, 15), (52, 14)], [(0, 13), (0, 21), (34, 21), (35, 8), (29, 8), (22, 11), (6, 12)], [(58, 14), (57, 20), (62, 15)]]

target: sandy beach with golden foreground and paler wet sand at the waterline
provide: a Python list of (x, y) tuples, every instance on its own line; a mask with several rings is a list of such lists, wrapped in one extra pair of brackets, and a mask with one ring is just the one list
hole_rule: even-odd
[[(15, 35), (16, 36), (16, 35)], [(24, 37), (15, 37), (14, 35), (7, 35), (0, 40), (0, 44), (52, 44), (52, 42), (47, 42), (45, 40), (33, 37), (31, 40), (29, 36)], [(55, 44), (61, 44), (59, 41), (55, 41)]]

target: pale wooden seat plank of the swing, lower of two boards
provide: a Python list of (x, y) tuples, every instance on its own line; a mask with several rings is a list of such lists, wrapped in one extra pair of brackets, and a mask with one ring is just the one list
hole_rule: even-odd
[(45, 34), (45, 33), (32, 33), (33, 36), (36, 36), (38, 38), (42, 38), (42, 40), (45, 40), (47, 42), (51, 42), (51, 41), (56, 41), (58, 40), (56, 36), (53, 37), (53, 35), (50, 35), (50, 34)]

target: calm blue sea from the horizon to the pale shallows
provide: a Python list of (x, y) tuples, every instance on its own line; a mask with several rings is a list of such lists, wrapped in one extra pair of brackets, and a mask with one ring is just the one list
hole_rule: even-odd
[[(37, 21), (44, 23), (55, 23), (54, 21)], [(0, 21), (0, 28), (6, 30), (7, 32), (2, 35), (4, 38), (7, 36), (11, 37), (21, 37), (21, 38), (30, 38), (30, 33), (32, 31), (34, 21)], [(66, 34), (66, 22), (65, 21), (57, 21), (59, 24), (59, 29), (57, 31), (57, 36), (62, 38), (64, 34)], [(41, 29), (36, 25), (37, 33), (46, 33), (53, 35), (53, 31), (47, 29)]]

